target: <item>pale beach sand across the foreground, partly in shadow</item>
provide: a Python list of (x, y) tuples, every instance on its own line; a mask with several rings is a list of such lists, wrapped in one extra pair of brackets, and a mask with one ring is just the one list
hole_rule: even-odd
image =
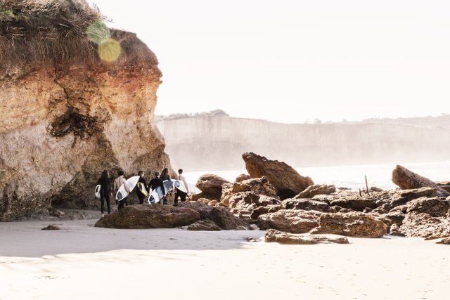
[(433, 241), (281, 245), (94, 223), (0, 223), (0, 299), (449, 299), (450, 247)]

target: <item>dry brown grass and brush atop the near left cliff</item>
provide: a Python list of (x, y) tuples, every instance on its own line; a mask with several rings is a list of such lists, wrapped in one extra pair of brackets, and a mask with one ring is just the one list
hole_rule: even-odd
[(0, 77), (24, 64), (94, 59), (86, 31), (102, 20), (84, 0), (0, 0)]

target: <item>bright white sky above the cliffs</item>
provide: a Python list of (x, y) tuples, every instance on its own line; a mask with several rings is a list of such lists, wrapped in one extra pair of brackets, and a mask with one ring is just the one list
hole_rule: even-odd
[(277, 122), (450, 113), (448, 0), (93, 0), (164, 74), (157, 114)]

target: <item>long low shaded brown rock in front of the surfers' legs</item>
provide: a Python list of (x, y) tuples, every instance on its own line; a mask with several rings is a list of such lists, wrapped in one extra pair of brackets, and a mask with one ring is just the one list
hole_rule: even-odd
[[(97, 221), (96, 227), (120, 229), (176, 228), (190, 226), (198, 221), (212, 221), (224, 230), (236, 230), (247, 224), (221, 207), (202, 203), (171, 205), (131, 205)], [(209, 225), (208, 225), (209, 224)], [(197, 223), (192, 228), (211, 227), (210, 222)]]

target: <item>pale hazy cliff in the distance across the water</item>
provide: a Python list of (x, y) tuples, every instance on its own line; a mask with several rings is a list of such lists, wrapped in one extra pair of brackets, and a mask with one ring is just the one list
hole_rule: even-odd
[(390, 124), (278, 124), (233, 117), (158, 122), (174, 167), (243, 169), (243, 152), (295, 167), (450, 159), (445, 129)]

